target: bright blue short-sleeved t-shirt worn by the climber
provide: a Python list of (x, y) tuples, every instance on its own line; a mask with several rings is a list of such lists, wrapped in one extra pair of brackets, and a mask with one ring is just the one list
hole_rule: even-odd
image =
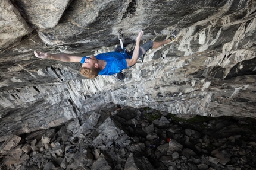
[[(132, 58), (132, 56), (120, 52), (102, 53), (95, 57), (97, 60), (105, 60), (107, 62), (105, 68), (99, 71), (99, 75), (113, 75), (115, 73), (120, 73), (121, 70), (127, 68), (126, 59)], [(82, 62), (85, 62), (85, 57), (81, 60), (81, 63)]]

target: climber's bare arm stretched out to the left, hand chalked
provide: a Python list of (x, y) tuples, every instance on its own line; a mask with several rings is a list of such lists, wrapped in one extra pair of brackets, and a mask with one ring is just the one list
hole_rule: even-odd
[(44, 53), (44, 52), (36, 52), (34, 51), (34, 54), (39, 59), (54, 59), (59, 60), (61, 62), (76, 62), (79, 63), (82, 59), (80, 56), (73, 56), (70, 54), (65, 53), (59, 53), (59, 54), (50, 54), (50, 53)]

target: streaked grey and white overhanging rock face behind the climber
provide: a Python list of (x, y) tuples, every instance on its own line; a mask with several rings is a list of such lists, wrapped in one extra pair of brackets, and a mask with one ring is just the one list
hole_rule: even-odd
[[(189, 116), (256, 117), (255, 1), (0, 3), (0, 142), (111, 104)], [(124, 70), (124, 81), (88, 80), (79, 75), (79, 63), (33, 56), (33, 50), (108, 52), (119, 42), (120, 28), (128, 50), (142, 29), (141, 43), (167, 39), (175, 29), (179, 34)]]

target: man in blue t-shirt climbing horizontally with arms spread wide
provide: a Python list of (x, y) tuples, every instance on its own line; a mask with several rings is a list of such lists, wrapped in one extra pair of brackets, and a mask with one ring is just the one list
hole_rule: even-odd
[(82, 68), (80, 73), (87, 78), (93, 79), (98, 75), (113, 75), (115, 73), (120, 73), (123, 69), (129, 68), (130, 66), (135, 65), (138, 60), (138, 57), (143, 56), (149, 49), (157, 49), (164, 44), (170, 43), (176, 36), (177, 31), (174, 31), (171, 37), (167, 40), (154, 42), (148, 41), (139, 46), (139, 41), (143, 36), (143, 31), (140, 31), (137, 38), (135, 49), (133, 52), (121, 53), (118, 51), (108, 52), (98, 54), (97, 56), (90, 57), (80, 57), (73, 56), (70, 54), (60, 53), (60, 54), (50, 54), (43, 52), (34, 52), (35, 56), (41, 59), (55, 59), (62, 62), (77, 62), (82, 63)]

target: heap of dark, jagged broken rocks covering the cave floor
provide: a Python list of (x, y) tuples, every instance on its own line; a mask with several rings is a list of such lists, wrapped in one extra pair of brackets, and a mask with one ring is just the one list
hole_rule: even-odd
[[(256, 169), (254, 120), (113, 107), (0, 143), (0, 169)], [(254, 127), (255, 128), (255, 127)]]

